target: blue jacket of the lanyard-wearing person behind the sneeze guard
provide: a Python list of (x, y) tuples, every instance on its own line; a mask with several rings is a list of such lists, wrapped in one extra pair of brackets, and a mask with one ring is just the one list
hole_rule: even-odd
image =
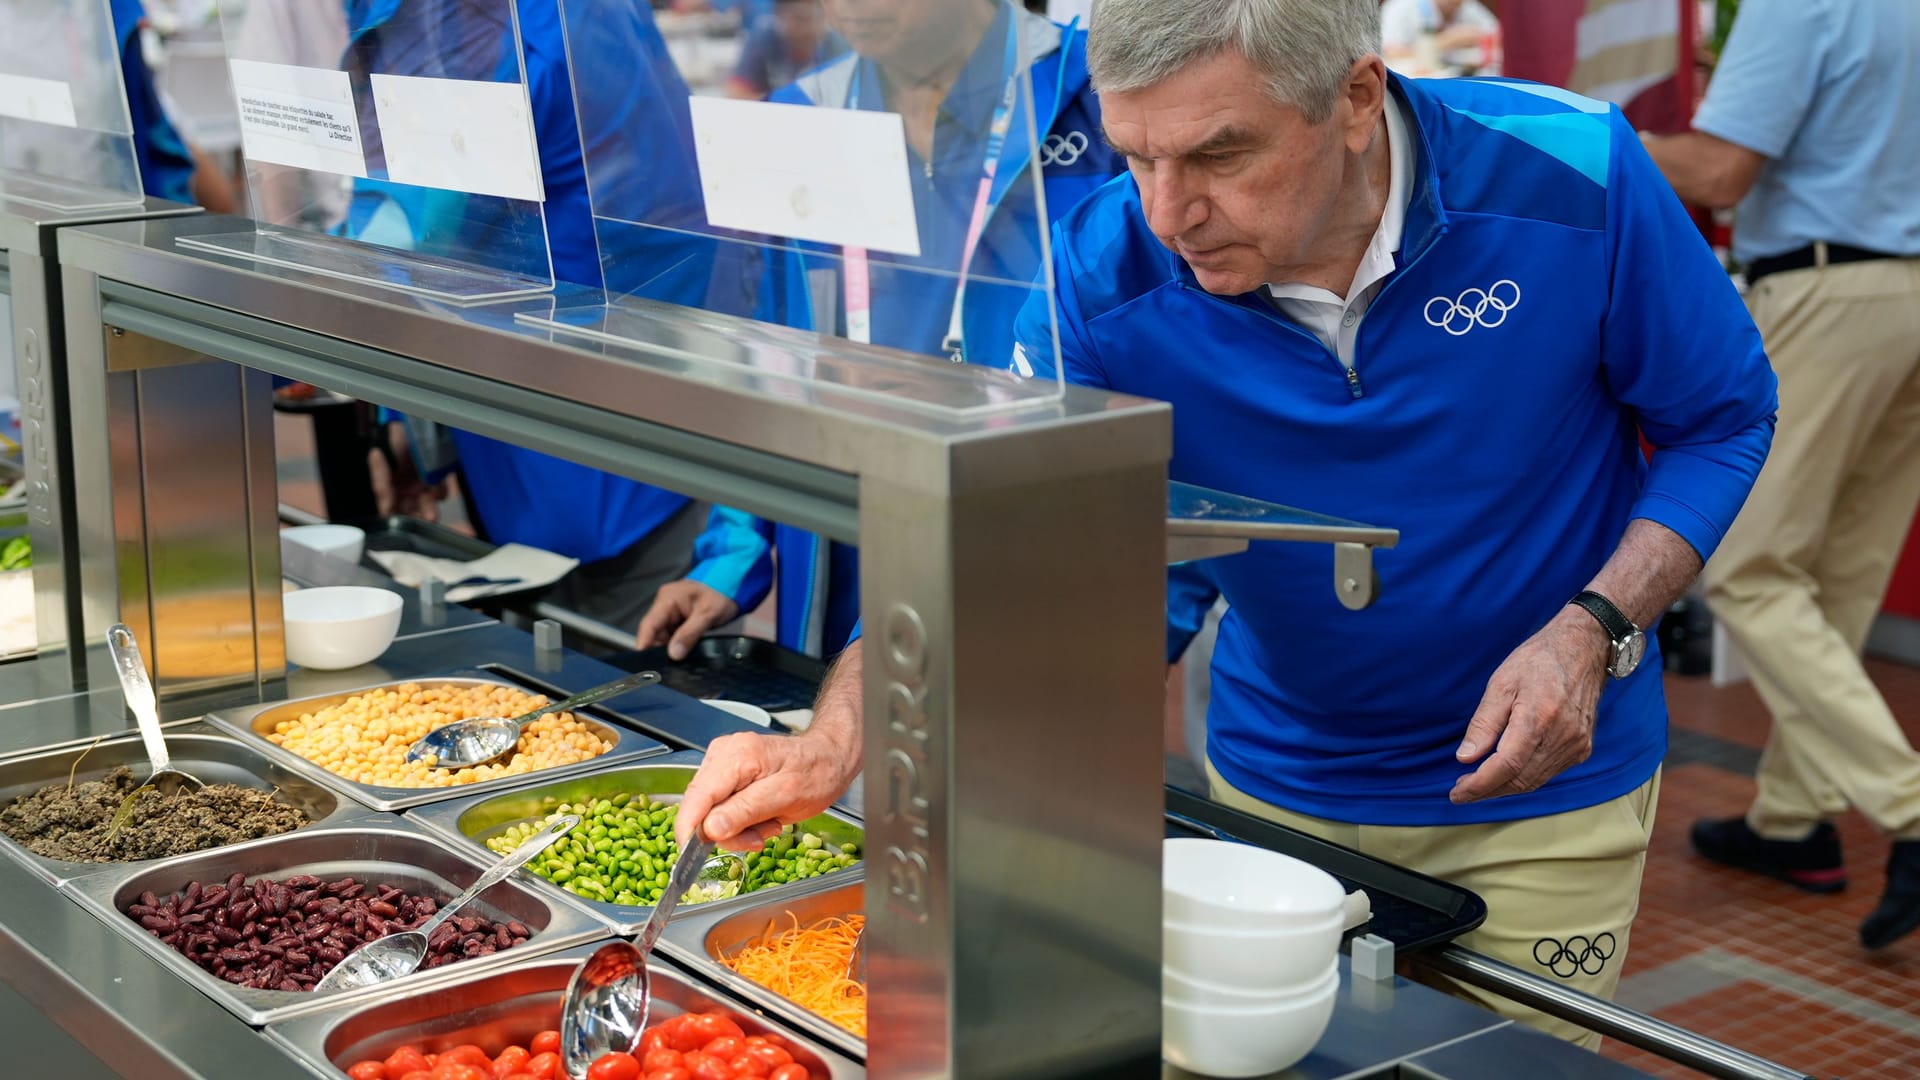
[[(993, 111), (993, 102), (1004, 90), (1004, 46), (1010, 31), (1023, 35), (1021, 56), (1033, 67), (1035, 131), (1048, 142), (1050, 160), (1043, 161), (1046, 206), (1050, 213), (1060, 215), (1125, 169), (1100, 138), (1100, 106), (1087, 79), (1087, 35), (1002, 4), (993, 29), (981, 38), (973, 60), (954, 83), (948, 104), (962, 106), (970, 115), (985, 117)], [(808, 73), (774, 94), (774, 100), (822, 108), (885, 108), (879, 69), (860, 56), (845, 56)], [(972, 135), (977, 136), (983, 129), (985, 121), (981, 131)], [(1039, 223), (1027, 179), (1031, 148), (1020, 136), (1025, 129), (1025, 110), (1018, 108), (1014, 135), (1008, 136), (995, 173), (993, 215), (970, 263), (970, 275), (1033, 281), (1039, 273)], [(872, 258), (874, 342), (929, 356), (941, 354), (954, 286), (948, 277), (902, 273), (900, 267), (948, 271), (954, 267), (979, 190), (983, 156), (983, 142), (977, 138), (962, 140), (958, 146), (947, 142), (943, 150), (943, 135), (935, 136), (935, 175), (925, 177), (918, 160), (910, 169), (924, 233), (922, 258), (883, 254)], [(770, 267), (753, 306), (760, 319), (814, 329), (806, 269), (808, 252), (820, 250), (799, 244)], [(814, 263), (837, 265), (826, 259)], [(1006, 356), (1012, 348), (1014, 315), (1029, 294), (1027, 286), (977, 281), (968, 284), (964, 309), (968, 359), (998, 363), (998, 357)], [(843, 323), (829, 329), (845, 334)], [(695, 567), (689, 577), (730, 596), (741, 611), (753, 611), (766, 600), (778, 565), (780, 642), (803, 651), (833, 653), (849, 640), (860, 615), (858, 552), (845, 544), (829, 544), (822, 557), (820, 546), (822, 540), (803, 528), (716, 507), (695, 546)]]

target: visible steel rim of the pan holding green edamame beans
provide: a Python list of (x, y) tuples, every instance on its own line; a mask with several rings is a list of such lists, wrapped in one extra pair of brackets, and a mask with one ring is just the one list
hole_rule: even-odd
[[(424, 824), (426, 828), (447, 836), (453, 842), (468, 844), (480, 857), (492, 855), (486, 842), (507, 826), (536, 821), (553, 813), (561, 803), (580, 803), (591, 799), (605, 799), (618, 794), (639, 796), (645, 794), (657, 801), (678, 801), (684, 796), (687, 784), (693, 782), (693, 773), (701, 765), (701, 751), (684, 749), (678, 753), (668, 753), (662, 757), (651, 757), (637, 765), (628, 765), (622, 769), (601, 769), (586, 776), (568, 776), (553, 780), (532, 780), (526, 786), (515, 788), (511, 792), (499, 794), (472, 794), (467, 798), (451, 799), (445, 803), (436, 803), (430, 807), (413, 809), (407, 813), (409, 821)], [(860, 828), (852, 819), (841, 815), (839, 811), (828, 811), (820, 817), (808, 819), (799, 826), (803, 832), (816, 832), (822, 840), (829, 844), (860, 844), (866, 847), (866, 830)], [(826, 878), (810, 880), (864, 880), (866, 863), (864, 851), (862, 861), (847, 867), (845, 871), (828, 874)], [(538, 878), (536, 878), (538, 880)], [(751, 894), (737, 896), (733, 899), (701, 903), (695, 907), (682, 905), (680, 911), (708, 911), (708, 909), (735, 909), (743, 903), (753, 903), (755, 897), (783, 896), (801, 884), (781, 884), (774, 888), (762, 888)], [(637, 934), (653, 915), (653, 907), (634, 907), (618, 903), (599, 903), (593, 899), (584, 899), (566, 890), (540, 880), (541, 888), (568, 896), (576, 903), (584, 905), (588, 911), (597, 915), (609, 930), (620, 934)]]

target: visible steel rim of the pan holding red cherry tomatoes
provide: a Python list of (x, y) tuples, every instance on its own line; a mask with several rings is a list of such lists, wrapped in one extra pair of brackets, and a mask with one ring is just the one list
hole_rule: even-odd
[[(384, 1059), (405, 1043), (438, 1053), (470, 1042), (488, 1055), (497, 1055), (513, 1043), (526, 1045), (540, 1030), (561, 1026), (561, 999), (566, 995), (566, 982), (595, 947), (582, 945), (522, 963), (511, 970), (449, 974), (405, 997), (342, 1005), (313, 1017), (273, 1024), (267, 1028), (267, 1036), (303, 1063), (317, 1067), (324, 1076), (340, 1076), (355, 1061)], [(820, 1045), (774, 1019), (743, 1009), (724, 994), (699, 986), (672, 965), (653, 961), (649, 986), (655, 1020), (722, 1009), (732, 1013), (747, 1034), (785, 1038), (793, 1047), (793, 1059), (804, 1065), (814, 1080), (866, 1076), (866, 1068), (847, 1055)]]

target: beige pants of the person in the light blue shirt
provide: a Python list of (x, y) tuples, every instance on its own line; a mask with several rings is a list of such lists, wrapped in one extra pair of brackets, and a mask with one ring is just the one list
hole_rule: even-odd
[(1747, 822), (1797, 840), (1859, 807), (1920, 838), (1920, 755), (1860, 665), (1920, 505), (1920, 259), (1768, 275), (1774, 448), (1707, 565), (1707, 603), (1774, 717)]

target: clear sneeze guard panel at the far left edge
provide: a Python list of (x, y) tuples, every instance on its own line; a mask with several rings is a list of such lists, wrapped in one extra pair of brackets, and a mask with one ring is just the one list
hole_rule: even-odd
[(0, 198), (75, 213), (140, 206), (108, 0), (0, 0)]

